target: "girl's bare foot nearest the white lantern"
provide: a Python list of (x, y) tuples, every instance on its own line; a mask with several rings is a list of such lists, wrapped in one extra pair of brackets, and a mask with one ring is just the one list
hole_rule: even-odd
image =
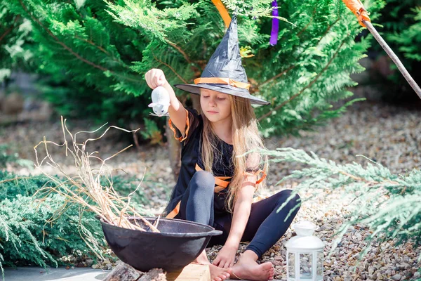
[(232, 268), (232, 277), (241, 280), (267, 281), (274, 279), (272, 263), (258, 264), (253, 259), (240, 259)]

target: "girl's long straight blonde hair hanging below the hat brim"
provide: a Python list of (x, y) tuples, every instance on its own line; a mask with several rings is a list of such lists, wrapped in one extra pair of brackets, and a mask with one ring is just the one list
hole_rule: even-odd
[[(245, 157), (236, 157), (243, 155), (244, 153), (255, 150), (264, 149), (262, 137), (260, 136), (258, 129), (258, 120), (256, 119), (253, 107), (251, 106), (250, 100), (247, 98), (241, 98), (238, 96), (228, 95), (231, 101), (231, 116), (232, 116), (232, 162), (234, 163), (234, 175), (229, 182), (228, 196), (227, 196), (227, 209), (234, 211), (234, 203), (241, 189), (241, 184), (244, 181), (243, 173), (246, 169), (252, 169), (253, 171), (259, 169), (260, 162), (263, 162), (263, 171), (267, 174), (269, 164), (267, 162), (267, 156), (263, 157), (257, 153), (250, 153)], [(216, 140), (218, 137), (210, 126), (210, 121), (203, 117), (203, 135), (202, 135), (202, 147), (201, 155), (202, 161), (205, 166), (205, 170), (212, 173), (213, 164), (213, 151), (218, 150), (216, 146)], [(217, 153), (220, 155), (220, 153)], [(258, 188), (265, 188), (266, 181), (262, 181), (256, 186)]]

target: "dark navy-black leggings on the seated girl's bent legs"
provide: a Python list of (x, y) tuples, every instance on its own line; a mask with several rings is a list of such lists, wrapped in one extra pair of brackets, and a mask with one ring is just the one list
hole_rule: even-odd
[[(196, 171), (193, 175), (180, 204), (180, 212), (176, 218), (195, 221), (222, 230), (222, 235), (213, 236), (208, 244), (225, 244), (231, 228), (232, 214), (215, 216), (213, 212), (213, 192), (215, 178), (207, 171)], [(250, 217), (244, 230), (241, 242), (250, 241), (246, 250), (254, 251), (260, 258), (281, 237), (300, 209), (300, 196), (290, 200), (279, 213), (277, 209), (290, 197), (292, 190), (282, 190), (265, 200), (251, 205)], [(285, 221), (290, 210), (292, 213)]]

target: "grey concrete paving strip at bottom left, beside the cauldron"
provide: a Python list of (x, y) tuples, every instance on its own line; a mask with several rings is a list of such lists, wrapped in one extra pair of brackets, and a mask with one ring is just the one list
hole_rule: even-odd
[[(111, 270), (93, 268), (4, 268), (4, 281), (98, 281), (103, 280)], [(1, 281), (1, 277), (0, 277)]]

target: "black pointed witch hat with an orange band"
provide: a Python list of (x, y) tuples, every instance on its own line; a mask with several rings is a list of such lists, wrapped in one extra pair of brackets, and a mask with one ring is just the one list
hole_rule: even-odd
[(194, 84), (175, 84), (178, 89), (200, 95), (200, 89), (248, 98), (251, 103), (270, 105), (266, 100), (252, 96), (248, 89), (246, 70), (241, 65), (236, 15), (233, 15), (228, 30), (215, 53), (210, 57), (201, 77)]

